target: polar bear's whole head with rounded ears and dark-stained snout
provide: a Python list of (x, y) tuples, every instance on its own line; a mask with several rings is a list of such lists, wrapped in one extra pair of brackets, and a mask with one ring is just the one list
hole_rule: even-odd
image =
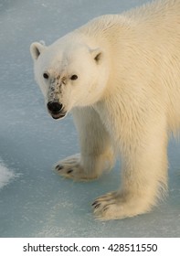
[(108, 77), (101, 48), (90, 48), (73, 38), (58, 40), (47, 47), (33, 43), (35, 78), (54, 119), (72, 108), (100, 101)]

